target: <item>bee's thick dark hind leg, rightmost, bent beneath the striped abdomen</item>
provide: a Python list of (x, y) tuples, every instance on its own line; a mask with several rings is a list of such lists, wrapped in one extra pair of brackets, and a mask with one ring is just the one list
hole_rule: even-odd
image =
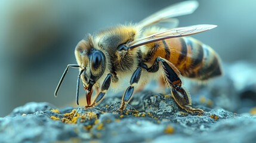
[(187, 112), (203, 113), (202, 109), (191, 107), (191, 97), (189, 93), (181, 87), (181, 74), (172, 63), (164, 58), (158, 57), (156, 58), (155, 63), (153, 63), (153, 66), (149, 67), (147, 71), (156, 72), (159, 70), (159, 67), (162, 70), (165, 86), (169, 86), (171, 88), (171, 95), (174, 97), (177, 104)]

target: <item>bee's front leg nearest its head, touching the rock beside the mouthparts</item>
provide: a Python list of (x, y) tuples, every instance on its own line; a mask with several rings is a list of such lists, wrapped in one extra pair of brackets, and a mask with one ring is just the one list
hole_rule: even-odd
[(91, 108), (97, 105), (104, 97), (104, 95), (107, 92), (107, 89), (109, 89), (110, 83), (111, 83), (111, 77), (112, 74), (107, 74), (107, 77), (105, 78), (102, 86), (101, 86), (101, 92), (95, 97), (94, 101), (90, 105), (85, 105), (85, 108)]

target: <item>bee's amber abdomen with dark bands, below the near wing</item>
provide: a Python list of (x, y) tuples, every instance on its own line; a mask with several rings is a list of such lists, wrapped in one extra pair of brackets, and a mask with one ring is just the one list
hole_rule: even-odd
[(207, 80), (221, 75), (220, 59), (211, 47), (191, 37), (172, 38), (146, 45), (150, 50), (146, 60), (156, 57), (171, 61), (181, 75)]

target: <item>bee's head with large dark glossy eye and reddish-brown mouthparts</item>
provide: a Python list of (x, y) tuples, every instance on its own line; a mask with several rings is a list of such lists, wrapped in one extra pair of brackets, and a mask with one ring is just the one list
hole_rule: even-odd
[[(95, 45), (97, 46), (97, 45)], [(87, 92), (87, 103), (90, 104), (92, 86), (103, 75), (106, 70), (106, 57), (100, 48), (95, 47), (91, 36), (88, 41), (82, 40), (75, 49), (75, 56), (80, 71), (82, 71), (81, 79)]]

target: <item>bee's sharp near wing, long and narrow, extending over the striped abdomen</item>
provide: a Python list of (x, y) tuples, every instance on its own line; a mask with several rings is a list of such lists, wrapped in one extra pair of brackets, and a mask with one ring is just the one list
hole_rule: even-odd
[(178, 27), (175, 29), (165, 30), (163, 32), (155, 33), (153, 35), (146, 36), (144, 38), (140, 38), (137, 41), (129, 43), (129, 48), (133, 49), (141, 45), (145, 45), (147, 43), (152, 43), (156, 41), (161, 41), (169, 38), (178, 38), (182, 36), (194, 35), (196, 33), (205, 32), (206, 30), (210, 30), (217, 27), (216, 25), (211, 24), (200, 24), (194, 26), (187, 27)]

